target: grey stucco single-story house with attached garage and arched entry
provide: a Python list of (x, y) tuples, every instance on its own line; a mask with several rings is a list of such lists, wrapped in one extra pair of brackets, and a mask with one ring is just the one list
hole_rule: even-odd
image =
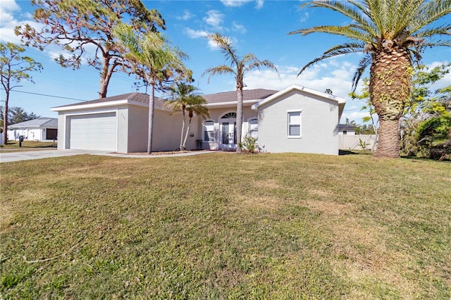
[[(237, 92), (204, 95), (210, 118), (194, 116), (187, 149), (235, 149)], [(338, 154), (338, 122), (345, 99), (291, 85), (281, 91), (243, 91), (242, 136), (261, 151)], [(58, 149), (119, 153), (147, 150), (149, 96), (138, 92), (52, 108), (58, 112)], [(155, 99), (152, 151), (180, 145), (182, 115)]]

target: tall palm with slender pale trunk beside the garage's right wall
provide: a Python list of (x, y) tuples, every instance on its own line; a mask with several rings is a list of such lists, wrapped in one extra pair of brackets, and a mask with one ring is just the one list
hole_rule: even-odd
[(158, 32), (149, 31), (145, 35), (141, 35), (133, 27), (122, 24), (116, 27), (114, 34), (129, 50), (125, 58), (132, 65), (133, 71), (151, 86), (147, 137), (147, 153), (151, 154), (155, 89), (159, 83), (168, 80), (168, 77), (173, 77), (175, 72), (187, 72), (182, 62), (183, 58), (187, 56), (178, 48), (171, 47), (166, 38)]

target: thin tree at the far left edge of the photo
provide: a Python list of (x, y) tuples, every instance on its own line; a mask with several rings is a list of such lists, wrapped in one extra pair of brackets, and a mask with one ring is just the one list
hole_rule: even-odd
[[(12, 89), (19, 87), (19, 82), (33, 82), (30, 72), (39, 71), (42, 65), (29, 56), (22, 56), (25, 49), (13, 43), (0, 44), (1, 85), (5, 89), (5, 106), (3, 120), (3, 143), (8, 144), (8, 102)], [(33, 82), (34, 83), (34, 82)]]

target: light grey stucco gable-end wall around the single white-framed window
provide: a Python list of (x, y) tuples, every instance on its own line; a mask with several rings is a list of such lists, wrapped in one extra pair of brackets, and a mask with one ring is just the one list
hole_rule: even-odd
[[(259, 106), (259, 147), (268, 152), (338, 155), (338, 104), (300, 91)], [(288, 111), (301, 111), (301, 137), (288, 137)]]

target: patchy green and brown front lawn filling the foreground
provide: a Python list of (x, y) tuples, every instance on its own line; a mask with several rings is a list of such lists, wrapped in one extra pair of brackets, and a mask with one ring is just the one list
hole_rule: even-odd
[(308, 154), (2, 163), (0, 298), (450, 299), (450, 170)]

